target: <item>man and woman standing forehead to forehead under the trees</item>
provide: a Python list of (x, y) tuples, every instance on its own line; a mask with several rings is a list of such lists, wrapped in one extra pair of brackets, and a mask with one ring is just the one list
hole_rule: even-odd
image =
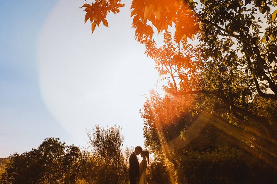
[[(139, 163), (137, 155), (141, 155), (142, 161)], [(147, 157), (147, 161), (146, 161)], [(140, 146), (135, 147), (135, 151), (129, 158), (129, 179), (130, 184), (147, 184), (146, 168), (149, 163), (149, 152), (142, 150)]]

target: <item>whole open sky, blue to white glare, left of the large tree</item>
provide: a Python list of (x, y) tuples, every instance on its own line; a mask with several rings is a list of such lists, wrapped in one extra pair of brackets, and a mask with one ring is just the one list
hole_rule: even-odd
[(0, 157), (46, 137), (87, 145), (94, 125), (120, 125), (143, 147), (139, 109), (158, 73), (134, 39), (130, 1), (109, 28), (84, 24), (83, 0), (0, 0)]

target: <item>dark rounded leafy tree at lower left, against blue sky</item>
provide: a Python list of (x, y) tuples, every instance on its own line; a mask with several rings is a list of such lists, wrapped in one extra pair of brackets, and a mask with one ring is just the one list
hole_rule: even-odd
[(38, 148), (11, 155), (1, 183), (75, 183), (70, 169), (78, 150), (76, 146), (66, 146), (59, 138), (47, 138)]

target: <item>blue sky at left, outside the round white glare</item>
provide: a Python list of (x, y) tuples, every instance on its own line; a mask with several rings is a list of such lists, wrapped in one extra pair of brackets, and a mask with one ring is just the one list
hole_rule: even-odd
[(42, 101), (35, 60), (40, 29), (55, 3), (0, 1), (0, 157), (67, 135)]

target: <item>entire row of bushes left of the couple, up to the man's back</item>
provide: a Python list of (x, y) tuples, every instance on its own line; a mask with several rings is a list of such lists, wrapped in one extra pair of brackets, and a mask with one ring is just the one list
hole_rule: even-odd
[(132, 151), (123, 150), (121, 128), (96, 126), (87, 134), (91, 151), (47, 138), (29, 152), (11, 155), (0, 183), (127, 184)]

